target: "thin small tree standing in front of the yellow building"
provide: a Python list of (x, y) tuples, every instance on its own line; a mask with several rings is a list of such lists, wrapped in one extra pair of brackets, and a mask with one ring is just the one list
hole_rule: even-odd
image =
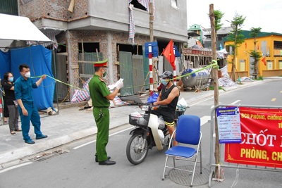
[(255, 76), (255, 79), (257, 79), (257, 75), (259, 73), (259, 70), (257, 68), (257, 61), (259, 61), (259, 58), (262, 58), (262, 55), (256, 51), (257, 49), (257, 36), (260, 33), (260, 30), (262, 30), (261, 27), (252, 27), (251, 28), (251, 32), (250, 32), (250, 36), (254, 37), (254, 44), (255, 44), (255, 49), (250, 51), (250, 56), (252, 58), (254, 58), (254, 62), (252, 62), (252, 65), (254, 66), (254, 73), (253, 75)]

